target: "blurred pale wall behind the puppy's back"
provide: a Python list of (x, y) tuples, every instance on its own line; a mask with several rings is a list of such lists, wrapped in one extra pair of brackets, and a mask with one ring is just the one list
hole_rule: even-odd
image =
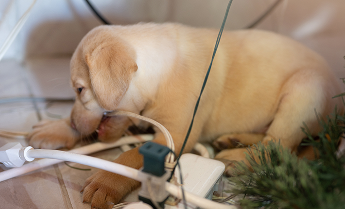
[[(171, 21), (217, 29), (228, 3), (228, 0), (90, 1), (113, 24)], [(31, 2), (0, 0), (0, 45)], [(234, 0), (226, 29), (245, 27), (273, 2), (275, 0)], [(70, 55), (80, 39), (100, 24), (84, 0), (37, 0), (4, 59)], [(345, 70), (344, 0), (284, 0), (258, 28), (291, 36), (321, 53), (337, 74)]]

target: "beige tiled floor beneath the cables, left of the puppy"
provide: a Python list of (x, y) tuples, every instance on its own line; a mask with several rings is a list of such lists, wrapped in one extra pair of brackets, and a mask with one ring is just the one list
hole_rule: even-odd
[[(30, 131), (40, 119), (57, 120), (69, 116), (72, 103), (45, 104), (10, 101), (17, 97), (71, 98), (69, 58), (33, 59), (25, 64), (14, 60), (0, 62), (0, 130)], [(0, 137), (0, 146), (16, 139)], [(19, 140), (25, 145), (25, 140)], [(121, 154), (119, 148), (92, 156), (112, 160)], [(78, 168), (84, 165), (69, 163)], [(98, 169), (82, 171), (64, 163), (0, 182), (1, 209), (89, 209), (79, 192), (85, 179)], [(8, 170), (0, 163), (0, 172)], [(135, 201), (129, 195), (126, 201)]]

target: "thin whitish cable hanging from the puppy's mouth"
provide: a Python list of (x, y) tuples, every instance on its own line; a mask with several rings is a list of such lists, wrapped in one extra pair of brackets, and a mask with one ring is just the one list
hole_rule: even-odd
[[(152, 120), (151, 118), (147, 118), (144, 117), (142, 115), (138, 115), (132, 112), (127, 112), (127, 111), (122, 111), (122, 110), (115, 110), (113, 112), (109, 112), (107, 114), (105, 114), (105, 116), (116, 116), (116, 115), (123, 115), (123, 116), (129, 116), (129, 117), (133, 117), (133, 118), (138, 118), (140, 120), (146, 121), (146, 122), (150, 122), (152, 124), (154, 124), (157, 128), (159, 128), (159, 130), (163, 133), (165, 139), (167, 140), (167, 147), (169, 147), (173, 152), (175, 152), (175, 144), (173, 142), (173, 137), (172, 135), (169, 133), (169, 131), (159, 122), (156, 122), (155, 120)], [(174, 155), (172, 153), (168, 154), (167, 160), (169, 163), (173, 163), (174, 162)]]

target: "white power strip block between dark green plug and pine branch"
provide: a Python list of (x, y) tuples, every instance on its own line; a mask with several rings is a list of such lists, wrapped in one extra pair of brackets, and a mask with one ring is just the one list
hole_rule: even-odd
[[(218, 191), (219, 182), (222, 180), (225, 170), (224, 163), (194, 154), (183, 154), (179, 163), (182, 171), (183, 189), (200, 197), (212, 199), (213, 192)], [(177, 167), (175, 176), (181, 183), (179, 172)], [(187, 203), (187, 208), (196, 209), (197, 206)], [(181, 202), (176, 206), (165, 205), (165, 209), (184, 209), (184, 205)]]

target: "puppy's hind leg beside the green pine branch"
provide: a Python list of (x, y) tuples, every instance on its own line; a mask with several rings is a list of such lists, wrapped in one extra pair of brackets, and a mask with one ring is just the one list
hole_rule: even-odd
[[(333, 81), (333, 82), (332, 82)], [(305, 138), (301, 130), (305, 123), (312, 135), (320, 130), (315, 110), (322, 117), (332, 113), (334, 106), (343, 107), (340, 100), (331, 99), (340, 89), (328, 75), (320, 75), (313, 70), (300, 70), (282, 87), (279, 104), (273, 122), (262, 139), (263, 144), (271, 140), (280, 140), (283, 147), (297, 151)], [(224, 162), (225, 174), (231, 175), (234, 161), (245, 160), (245, 148), (223, 150), (215, 158)]]

